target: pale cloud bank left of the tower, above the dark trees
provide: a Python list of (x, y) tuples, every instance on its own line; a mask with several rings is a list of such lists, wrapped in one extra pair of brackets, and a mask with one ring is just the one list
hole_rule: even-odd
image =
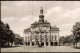
[(35, 21), (38, 21), (38, 17), (27, 15), (25, 17), (9, 17), (9, 18), (2, 18), (2, 21), (4, 23), (8, 23), (10, 26), (10, 29), (14, 33), (18, 33), (21, 36), (23, 36), (24, 29), (31, 26), (31, 24)]

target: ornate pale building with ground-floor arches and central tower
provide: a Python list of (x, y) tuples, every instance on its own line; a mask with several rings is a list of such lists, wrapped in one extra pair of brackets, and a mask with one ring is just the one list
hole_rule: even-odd
[(39, 21), (24, 30), (24, 42), (27, 46), (59, 45), (59, 28), (44, 21), (43, 8), (40, 9)]

